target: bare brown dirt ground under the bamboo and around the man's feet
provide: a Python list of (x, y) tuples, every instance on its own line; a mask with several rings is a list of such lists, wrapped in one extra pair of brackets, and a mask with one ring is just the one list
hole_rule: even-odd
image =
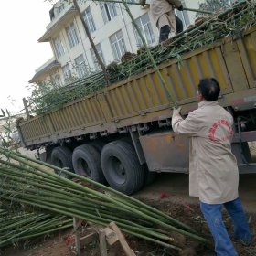
[[(255, 197), (256, 175), (240, 176), (240, 198), (250, 220), (251, 231), (256, 234), (256, 197)], [(188, 224), (211, 240), (208, 227), (198, 208), (197, 198), (188, 197), (188, 176), (162, 174), (155, 182), (142, 191), (134, 195), (144, 202), (159, 208), (170, 214), (172, 217)], [(224, 211), (224, 221), (228, 227), (229, 234), (232, 233), (232, 225), (229, 216)], [(169, 251), (144, 240), (138, 240), (131, 236), (126, 236), (130, 247), (138, 256), (207, 256), (210, 251), (198, 242), (183, 240), (185, 247), (193, 248), (193, 253), (178, 254), (176, 251)], [(37, 241), (25, 241), (17, 248), (8, 248), (0, 253), (1, 256), (71, 256), (74, 242), (72, 229), (59, 232), (50, 237), (45, 237)], [(240, 256), (256, 256), (256, 241), (253, 246), (246, 247), (238, 242), (234, 242)], [(95, 242), (83, 248), (81, 256), (100, 256), (99, 244)], [(115, 244), (108, 251), (109, 256), (123, 256), (123, 251), (119, 244)]]

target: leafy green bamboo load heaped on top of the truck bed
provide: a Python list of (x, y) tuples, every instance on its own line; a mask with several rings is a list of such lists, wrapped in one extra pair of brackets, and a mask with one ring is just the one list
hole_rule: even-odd
[[(171, 40), (165, 41), (165, 44), (150, 48), (155, 63), (159, 65), (167, 59), (177, 59), (180, 66), (182, 65), (181, 56), (184, 53), (211, 45), (222, 38), (242, 37), (247, 29), (256, 25), (255, 7), (255, 0), (240, 1), (221, 14), (209, 16), (200, 26), (189, 28), (176, 37), (172, 37)], [(147, 52), (140, 50), (132, 59), (109, 70), (109, 77), (113, 84), (152, 68), (153, 64)], [(102, 72), (93, 73), (85, 79), (77, 80), (58, 90), (48, 91), (44, 95), (37, 95), (37, 93), (32, 95), (29, 99), (31, 110), (36, 113), (49, 112), (60, 108), (65, 103), (100, 91), (104, 87)]]

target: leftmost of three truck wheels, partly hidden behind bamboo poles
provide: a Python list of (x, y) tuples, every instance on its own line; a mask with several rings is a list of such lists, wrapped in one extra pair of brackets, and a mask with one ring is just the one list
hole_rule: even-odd
[[(55, 147), (51, 152), (51, 164), (58, 166), (59, 168), (67, 168), (70, 172), (73, 172), (72, 165), (72, 152), (66, 146)], [(55, 171), (59, 176), (69, 178), (69, 175)]]

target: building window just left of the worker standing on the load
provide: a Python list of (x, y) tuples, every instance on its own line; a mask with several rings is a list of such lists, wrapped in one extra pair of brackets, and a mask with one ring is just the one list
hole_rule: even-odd
[[(155, 43), (155, 36), (150, 24), (149, 16), (148, 14), (144, 14), (143, 16), (140, 16), (136, 20), (137, 26), (140, 28), (141, 33), (143, 34), (143, 37), (148, 45), (152, 45)], [(135, 31), (135, 37), (138, 44), (138, 47), (143, 46), (143, 42), (141, 37), (139, 36), (137, 30), (134, 28)]]

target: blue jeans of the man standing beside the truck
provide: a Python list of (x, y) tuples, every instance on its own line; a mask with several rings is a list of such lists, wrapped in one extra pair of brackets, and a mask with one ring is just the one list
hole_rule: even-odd
[(234, 225), (234, 239), (246, 244), (252, 241), (251, 231), (243, 211), (240, 198), (224, 204), (206, 204), (200, 202), (201, 211), (208, 222), (208, 228), (214, 239), (218, 256), (238, 256), (222, 220), (222, 206), (227, 209)]

